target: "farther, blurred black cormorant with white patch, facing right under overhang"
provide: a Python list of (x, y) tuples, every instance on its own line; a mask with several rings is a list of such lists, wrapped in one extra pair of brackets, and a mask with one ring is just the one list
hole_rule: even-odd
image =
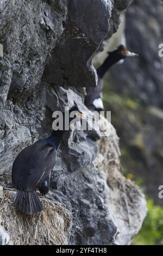
[(118, 48), (113, 52), (108, 52), (109, 56), (105, 59), (104, 63), (97, 69), (98, 83), (95, 88), (86, 88), (85, 105), (91, 111), (102, 111), (103, 100), (103, 81), (102, 78), (106, 71), (108, 71), (112, 65), (120, 60), (126, 59), (127, 57), (138, 56), (136, 53), (129, 52), (123, 45), (118, 46)]

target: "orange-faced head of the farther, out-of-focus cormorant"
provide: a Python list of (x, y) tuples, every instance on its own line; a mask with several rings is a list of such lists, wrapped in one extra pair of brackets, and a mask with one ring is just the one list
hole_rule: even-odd
[(108, 53), (110, 58), (115, 58), (117, 60), (126, 59), (127, 57), (139, 56), (137, 53), (130, 52), (129, 50), (127, 50), (127, 48), (124, 47), (124, 45), (120, 45), (115, 51)]

